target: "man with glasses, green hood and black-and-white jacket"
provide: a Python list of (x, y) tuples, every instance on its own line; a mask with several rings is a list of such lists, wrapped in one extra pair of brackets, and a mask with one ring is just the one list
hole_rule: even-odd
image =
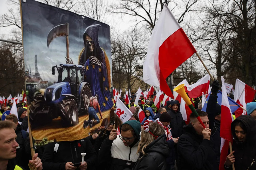
[(140, 142), (140, 122), (136, 120), (127, 121), (122, 124), (120, 129), (120, 135), (117, 134), (115, 129), (112, 129), (109, 138), (101, 144), (98, 162), (104, 163), (106, 169), (132, 169), (139, 157), (137, 150)]

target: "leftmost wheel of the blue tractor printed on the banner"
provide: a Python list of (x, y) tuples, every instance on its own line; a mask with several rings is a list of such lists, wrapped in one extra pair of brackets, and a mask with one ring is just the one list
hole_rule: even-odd
[(44, 101), (42, 100), (34, 99), (28, 106), (31, 128), (49, 124), (52, 121), (50, 115), (45, 116), (40, 113), (37, 113), (38, 111), (43, 110), (43, 103)]

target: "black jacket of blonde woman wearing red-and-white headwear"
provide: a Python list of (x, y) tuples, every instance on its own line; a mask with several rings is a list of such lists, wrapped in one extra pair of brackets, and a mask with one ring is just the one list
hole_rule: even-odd
[(144, 151), (146, 155), (143, 156), (143, 154), (140, 153), (133, 170), (167, 169), (166, 157), (169, 155), (169, 147), (166, 142), (165, 134), (150, 143)]

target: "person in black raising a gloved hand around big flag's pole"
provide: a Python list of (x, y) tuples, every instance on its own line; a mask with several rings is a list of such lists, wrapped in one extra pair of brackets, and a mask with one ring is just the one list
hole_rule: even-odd
[(217, 104), (219, 87), (220, 85), (218, 80), (214, 80), (211, 84), (211, 94), (206, 107), (206, 113), (208, 114), (209, 127), (211, 129), (211, 136), (214, 141), (218, 164), (221, 156), (221, 137), (219, 136), (221, 130), (221, 105)]

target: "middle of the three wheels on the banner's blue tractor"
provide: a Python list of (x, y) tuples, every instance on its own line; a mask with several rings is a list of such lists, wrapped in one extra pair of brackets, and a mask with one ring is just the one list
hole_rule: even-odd
[[(78, 108), (74, 99), (62, 100), (61, 114), (63, 126), (75, 126), (78, 124)], [(65, 115), (65, 116), (64, 116)]]

